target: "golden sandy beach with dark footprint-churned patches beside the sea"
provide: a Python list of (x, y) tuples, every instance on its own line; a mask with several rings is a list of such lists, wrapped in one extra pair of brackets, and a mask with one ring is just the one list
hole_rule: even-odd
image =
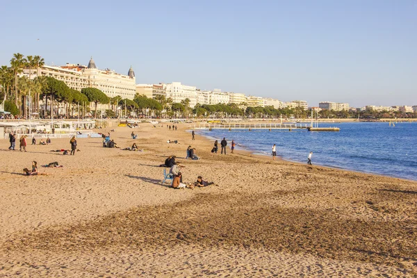
[[(78, 139), (75, 156), (50, 152), (68, 138), (25, 153), (0, 140), (0, 277), (417, 277), (416, 181), (212, 154), (178, 127), (111, 132), (144, 152), (101, 138)], [(186, 160), (188, 145), (202, 159)], [(185, 182), (215, 185), (162, 185), (172, 154)], [(33, 160), (64, 167), (24, 176)]]

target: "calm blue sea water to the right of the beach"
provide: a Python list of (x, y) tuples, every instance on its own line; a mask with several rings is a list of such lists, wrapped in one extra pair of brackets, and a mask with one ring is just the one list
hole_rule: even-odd
[(319, 124), (338, 126), (340, 132), (213, 130), (197, 133), (220, 140), (235, 140), (236, 149), (277, 156), (306, 163), (313, 152), (313, 164), (384, 174), (417, 180), (417, 123), (363, 122)]

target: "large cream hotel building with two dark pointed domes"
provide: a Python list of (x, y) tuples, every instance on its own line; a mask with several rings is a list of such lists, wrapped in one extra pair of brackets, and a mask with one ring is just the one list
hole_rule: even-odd
[(97, 88), (108, 97), (133, 99), (136, 95), (136, 78), (132, 67), (128, 75), (118, 74), (109, 69), (99, 70), (91, 58), (87, 68), (83, 69), (83, 76), (87, 78), (88, 87)]

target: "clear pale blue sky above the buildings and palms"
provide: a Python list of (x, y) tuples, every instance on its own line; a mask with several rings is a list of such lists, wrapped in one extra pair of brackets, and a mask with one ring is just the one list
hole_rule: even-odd
[[(0, 65), (96, 65), (137, 83), (417, 105), (417, 1), (3, 1)], [(38, 40), (39, 39), (39, 40)]]

